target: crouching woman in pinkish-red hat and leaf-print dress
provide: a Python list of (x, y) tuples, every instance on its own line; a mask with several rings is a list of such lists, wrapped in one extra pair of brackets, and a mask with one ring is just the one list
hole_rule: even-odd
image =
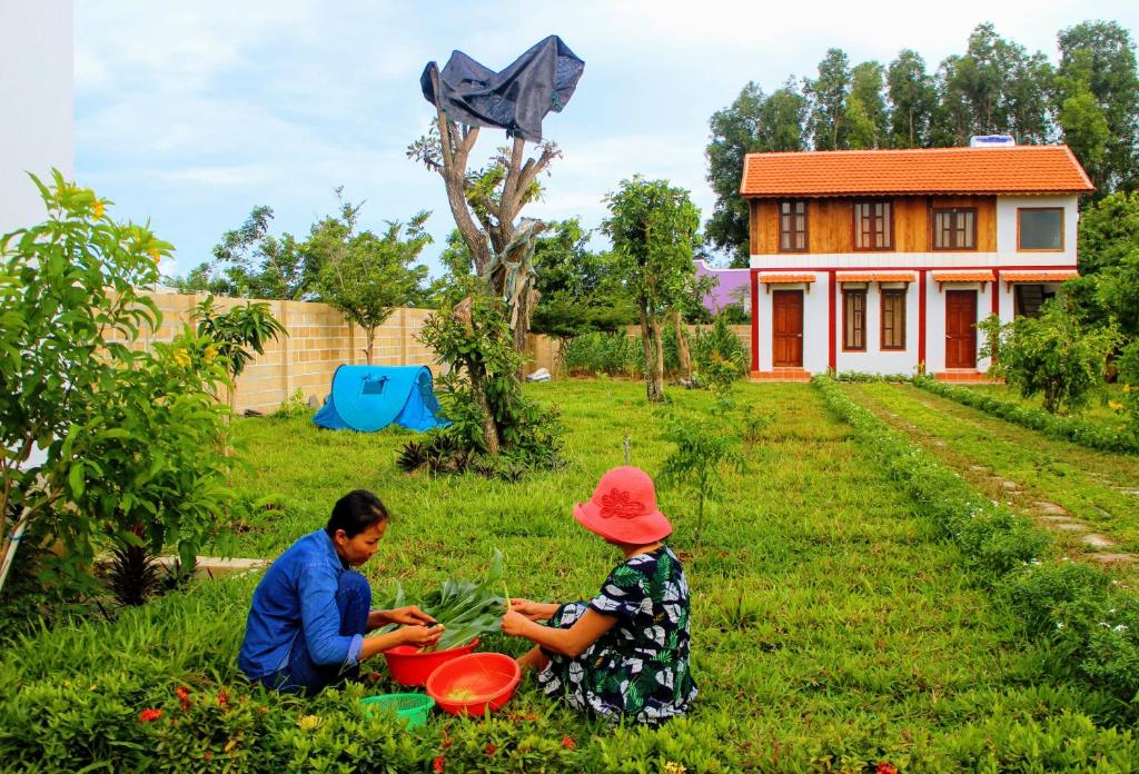
[(518, 662), (539, 670), (548, 695), (582, 711), (648, 724), (683, 715), (696, 698), (688, 583), (663, 542), (672, 525), (657, 510), (653, 479), (639, 468), (614, 468), (573, 514), (625, 559), (589, 602), (510, 600), (502, 632), (536, 643)]

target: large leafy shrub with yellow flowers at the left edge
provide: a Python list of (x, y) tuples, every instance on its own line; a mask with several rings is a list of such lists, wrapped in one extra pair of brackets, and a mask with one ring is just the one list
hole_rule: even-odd
[(161, 322), (137, 288), (171, 246), (59, 172), (33, 181), (48, 219), (0, 238), (0, 549), (11, 560), (24, 532), (60, 540), (46, 584), (82, 582), (114, 537), (192, 561), (229, 510), (222, 360), (189, 330), (131, 346)]

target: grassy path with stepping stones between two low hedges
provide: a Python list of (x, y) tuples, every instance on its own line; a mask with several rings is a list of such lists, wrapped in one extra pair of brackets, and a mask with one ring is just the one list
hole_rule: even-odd
[(1139, 460), (1052, 440), (910, 385), (847, 385), (981, 494), (1059, 536), (1072, 554), (1139, 571)]

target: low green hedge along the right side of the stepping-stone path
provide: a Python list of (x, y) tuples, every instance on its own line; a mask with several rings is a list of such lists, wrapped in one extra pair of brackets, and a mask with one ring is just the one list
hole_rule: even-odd
[(1071, 440), (1074, 444), (1101, 452), (1139, 454), (1139, 440), (1098, 422), (1089, 422), (1075, 417), (1057, 417), (1043, 409), (1001, 401), (967, 387), (953, 387), (928, 376), (915, 377), (913, 384), (934, 395), (973, 409), (980, 409), (993, 417), (1043, 433), (1051, 438)]

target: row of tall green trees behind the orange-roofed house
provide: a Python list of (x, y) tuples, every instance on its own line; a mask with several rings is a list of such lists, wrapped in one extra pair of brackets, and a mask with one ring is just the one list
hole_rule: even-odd
[(1057, 35), (1058, 60), (1030, 53), (980, 24), (961, 55), (931, 73), (917, 51), (888, 65), (851, 65), (829, 49), (814, 77), (789, 77), (767, 93), (748, 82), (710, 120), (708, 182), (716, 195), (705, 234), (747, 265), (744, 156), (775, 150), (936, 148), (974, 134), (1011, 134), (1021, 145), (1064, 142), (1096, 197), (1139, 187), (1139, 72), (1131, 34), (1115, 22), (1084, 22)]

